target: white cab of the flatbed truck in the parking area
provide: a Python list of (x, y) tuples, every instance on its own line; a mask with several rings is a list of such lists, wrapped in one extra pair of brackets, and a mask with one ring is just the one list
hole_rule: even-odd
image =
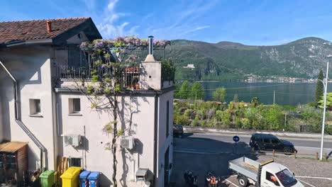
[(292, 174), (287, 167), (272, 162), (262, 166), (260, 174), (260, 186), (262, 187), (288, 187), (288, 186), (303, 186), (294, 174)]

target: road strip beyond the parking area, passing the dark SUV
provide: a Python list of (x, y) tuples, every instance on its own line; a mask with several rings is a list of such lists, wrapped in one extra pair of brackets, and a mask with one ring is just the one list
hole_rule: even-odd
[[(250, 153), (248, 143), (250, 135), (238, 135), (236, 151), (238, 153)], [(316, 154), (320, 152), (321, 141), (318, 139), (304, 139), (294, 137), (279, 137), (282, 140), (292, 142), (298, 153)], [(235, 151), (233, 135), (217, 133), (185, 133), (181, 140), (175, 139), (175, 152), (193, 152), (193, 153), (230, 153)], [(324, 153), (332, 154), (332, 141), (324, 142)], [(314, 157), (314, 156), (313, 156)]]

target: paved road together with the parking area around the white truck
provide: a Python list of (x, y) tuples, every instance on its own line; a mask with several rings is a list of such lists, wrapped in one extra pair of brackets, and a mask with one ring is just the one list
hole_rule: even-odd
[[(319, 152), (320, 140), (280, 137), (292, 142), (296, 149), (302, 153), (315, 154)], [(234, 152), (233, 135), (217, 133), (185, 133), (183, 138), (174, 138), (174, 153), (171, 186), (185, 186), (184, 171), (194, 171), (198, 175), (199, 186), (204, 186), (204, 176), (207, 171), (216, 176), (222, 176), (223, 186), (238, 187), (236, 176), (228, 169), (228, 161), (239, 157), (249, 157), (263, 163), (275, 159), (277, 163), (287, 166), (295, 172), (301, 181), (308, 184), (304, 186), (330, 187), (332, 162), (319, 162), (314, 159), (294, 159), (292, 157), (272, 157), (272, 155), (251, 154), (248, 146), (250, 135), (240, 135), (237, 151)], [(331, 140), (326, 141), (324, 152), (332, 153)], [(328, 179), (311, 179), (310, 177), (322, 177)]]

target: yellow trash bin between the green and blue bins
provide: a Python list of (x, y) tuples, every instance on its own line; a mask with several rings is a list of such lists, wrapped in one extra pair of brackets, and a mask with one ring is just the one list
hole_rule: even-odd
[(60, 178), (62, 179), (62, 187), (77, 187), (79, 186), (79, 172), (80, 167), (70, 167), (65, 171)]

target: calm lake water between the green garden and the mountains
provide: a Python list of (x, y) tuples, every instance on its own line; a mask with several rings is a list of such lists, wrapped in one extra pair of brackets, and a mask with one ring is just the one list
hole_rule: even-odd
[[(314, 101), (316, 83), (280, 83), (280, 82), (243, 82), (243, 81), (201, 81), (204, 89), (205, 100), (212, 99), (213, 91), (218, 87), (225, 87), (226, 101), (232, 101), (234, 94), (238, 94), (239, 101), (250, 102), (251, 98), (258, 97), (264, 104), (275, 103), (278, 105), (297, 106), (299, 103)], [(328, 91), (332, 91), (332, 83), (328, 84)]]

